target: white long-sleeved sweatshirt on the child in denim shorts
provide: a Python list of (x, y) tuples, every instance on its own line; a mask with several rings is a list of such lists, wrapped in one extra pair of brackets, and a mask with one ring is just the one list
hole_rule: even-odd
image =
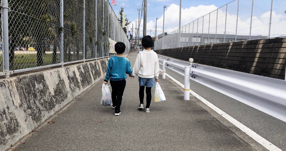
[(141, 78), (159, 77), (158, 55), (153, 50), (143, 50), (137, 55), (133, 66), (132, 76), (138, 75)]

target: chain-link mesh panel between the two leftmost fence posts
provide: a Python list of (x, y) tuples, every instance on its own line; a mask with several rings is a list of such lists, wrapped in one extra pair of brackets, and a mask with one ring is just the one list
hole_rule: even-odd
[(10, 70), (59, 63), (59, 1), (9, 1), (8, 6)]

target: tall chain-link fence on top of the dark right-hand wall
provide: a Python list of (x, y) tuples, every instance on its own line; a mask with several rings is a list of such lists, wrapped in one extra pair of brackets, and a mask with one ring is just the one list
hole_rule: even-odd
[(154, 49), (282, 37), (286, 35), (285, 0), (234, 0), (159, 37)]

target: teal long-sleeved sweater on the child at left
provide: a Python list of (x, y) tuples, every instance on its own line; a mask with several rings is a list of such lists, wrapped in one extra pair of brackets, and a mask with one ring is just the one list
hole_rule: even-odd
[(132, 74), (130, 62), (125, 57), (113, 56), (109, 59), (104, 81), (125, 80), (126, 74)]

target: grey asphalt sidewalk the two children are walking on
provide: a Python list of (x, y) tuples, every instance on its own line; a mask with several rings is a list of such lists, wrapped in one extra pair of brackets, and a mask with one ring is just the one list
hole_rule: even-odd
[[(133, 52), (127, 57), (132, 66), (136, 55)], [(23, 140), (25, 144), (15, 147), (19, 151), (265, 149), (246, 141), (251, 138), (238, 136), (241, 132), (233, 132), (194, 97), (184, 101), (181, 89), (170, 79), (161, 78), (159, 83), (167, 100), (155, 103), (152, 98), (150, 113), (137, 109), (137, 76), (126, 79), (119, 116), (114, 116), (110, 106), (100, 105), (100, 81), (52, 117), (55, 123), (42, 125)]]

